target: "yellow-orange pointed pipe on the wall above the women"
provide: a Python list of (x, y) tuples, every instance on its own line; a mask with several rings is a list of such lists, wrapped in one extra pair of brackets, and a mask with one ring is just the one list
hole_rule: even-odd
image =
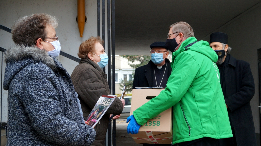
[(85, 0), (78, 0), (78, 27), (80, 32), (80, 37), (82, 38), (82, 34), (84, 31), (85, 25)]

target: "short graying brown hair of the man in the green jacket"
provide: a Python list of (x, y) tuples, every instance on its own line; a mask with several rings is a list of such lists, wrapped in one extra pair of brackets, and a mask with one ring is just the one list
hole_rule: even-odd
[(169, 26), (169, 29), (172, 28), (172, 32), (181, 32), (184, 35), (184, 38), (194, 37), (194, 32), (192, 27), (187, 22), (177, 22)]

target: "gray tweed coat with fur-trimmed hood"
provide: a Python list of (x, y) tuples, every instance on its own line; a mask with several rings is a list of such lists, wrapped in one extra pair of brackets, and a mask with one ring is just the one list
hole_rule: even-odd
[(15, 46), (5, 53), (7, 145), (91, 145), (96, 132), (81, 121), (71, 78), (46, 51)]

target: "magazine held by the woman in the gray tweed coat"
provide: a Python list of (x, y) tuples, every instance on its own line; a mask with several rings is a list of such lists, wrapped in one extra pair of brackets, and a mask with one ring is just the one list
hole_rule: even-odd
[(117, 98), (116, 95), (102, 95), (93, 107), (91, 113), (87, 117), (86, 121), (88, 125), (94, 128), (94, 126), (99, 122), (102, 116), (110, 107), (111, 103)]

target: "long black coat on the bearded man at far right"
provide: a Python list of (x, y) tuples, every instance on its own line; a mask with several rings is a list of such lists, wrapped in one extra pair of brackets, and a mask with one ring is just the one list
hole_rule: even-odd
[[(230, 55), (230, 54), (228, 54)], [(222, 87), (232, 130), (234, 130), (238, 146), (257, 145), (256, 134), (250, 106), (250, 100), (255, 93), (254, 78), (250, 64), (236, 60), (230, 55), (229, 61), (220, 72), (224, 77), (225, 87)]]

